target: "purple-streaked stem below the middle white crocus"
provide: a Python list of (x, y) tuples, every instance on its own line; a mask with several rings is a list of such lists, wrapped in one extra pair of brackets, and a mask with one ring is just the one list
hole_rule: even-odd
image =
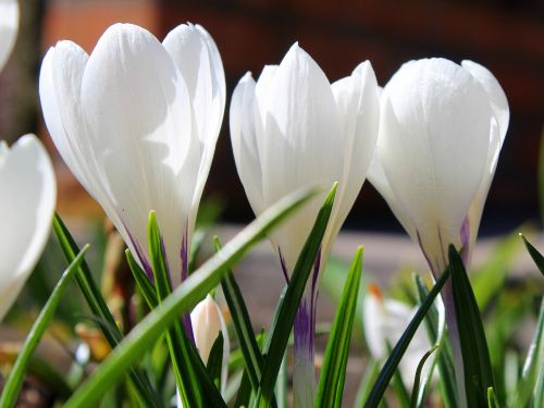
[(295, 408), (313, 407), (316, 396), (314, 370), (316, 302), (313, 290), (306, 290), (295, 318), (295, 367), (293, 396)]

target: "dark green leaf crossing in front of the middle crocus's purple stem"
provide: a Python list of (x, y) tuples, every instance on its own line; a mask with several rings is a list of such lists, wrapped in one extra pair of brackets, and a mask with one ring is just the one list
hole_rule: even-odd
[(336, 188), (337, 184), (335, 183), (318, 213), (312, 231), (295, 264), (285, 297), (280, 306), (277, 320), (275, 321), (276, 325), (272, 329), (270, 347), (264, 350), (264, 354), (268, 356), (264, 360), (260, 387), (256, 397), (256, 406), (258, 407), (268, 407), (273, 399), (277, 372), (289, 341), (300, 299), (306, 289), (306, 283), (310, 277), (313, 263), (321, 248), (321, 242), (333, 209)]

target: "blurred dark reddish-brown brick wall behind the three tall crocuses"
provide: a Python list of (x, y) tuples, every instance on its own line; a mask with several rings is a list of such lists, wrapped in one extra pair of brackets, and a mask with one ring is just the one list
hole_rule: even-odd
[[(483, 226), (506, 226), (536, 214), (536, 161), (544, 122), (544, 13), (537, 1), (393, 0), (51, 0), (45, 44), (76, 40), (90, 51), (113, 22), (132, 22), (159, 39), (180, 23), (203, 25), (215, 39), (228, 91), (246, 71), (257, 76), (298, 40), (331, 81), (369, 59), (384, 85), (400, 64), (423, 57), (471, 59), (503, 85), (511, 121)], [(228, 200), (226, 217), (251, 217), (231, 153), (225, 112), (207, 193)], [(351, 225), (395, 225), (368, 185)]]

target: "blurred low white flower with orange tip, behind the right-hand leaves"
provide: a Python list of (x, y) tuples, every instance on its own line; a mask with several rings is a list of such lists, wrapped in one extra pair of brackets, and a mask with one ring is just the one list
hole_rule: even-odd
[[(441, 321), (443, 321), (444, 308), (442, 302), (436, 301), (435, 305), (437, 305), (442, 313)], [(392, 348), (395, 347), (417, 311), (418, 307), (412, 308), (398, 300), (384, 299), (376, 285), (368, 285), (363, 301), (362, 320), (367, 345), (370, 355), (375, 360), (385, 361), (390, 356), (387, 343)], [(419, 362), (432, 347), (424, 324), (421, 324), (398, 366), (403, 382), (409, 390), (413, 387)], [(432, 358), (425, 361), (424, 372), (429, 370), (431, 360)], [(423, 375), (425, 375), (424, 372)]]

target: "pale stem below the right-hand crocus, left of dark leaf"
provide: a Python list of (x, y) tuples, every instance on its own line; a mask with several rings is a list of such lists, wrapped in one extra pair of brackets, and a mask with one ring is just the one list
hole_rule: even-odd
[(457, 395), (459, 407), (467, 407), (467, 396), (465, 392), (465, 366), (462, 362), (461, 343), (459, 339), (459, 329), (457, 326), (457, 313), (454, 304), (454, 290), (452, 279), (449, 279), (442, 289), (442, 300), (446, 311), (446, 324), (452, 351), (454, 354), (455, 379), (457, 383)]

